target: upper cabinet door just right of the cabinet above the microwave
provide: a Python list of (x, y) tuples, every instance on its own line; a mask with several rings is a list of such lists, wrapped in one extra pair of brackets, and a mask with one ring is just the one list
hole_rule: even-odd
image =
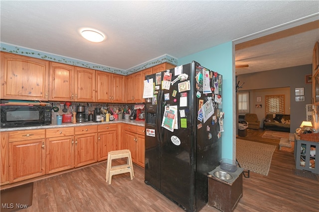
[(52, 101), (75, 101), (75, 69), (60, 63), (50, 63), (50, 95)]

